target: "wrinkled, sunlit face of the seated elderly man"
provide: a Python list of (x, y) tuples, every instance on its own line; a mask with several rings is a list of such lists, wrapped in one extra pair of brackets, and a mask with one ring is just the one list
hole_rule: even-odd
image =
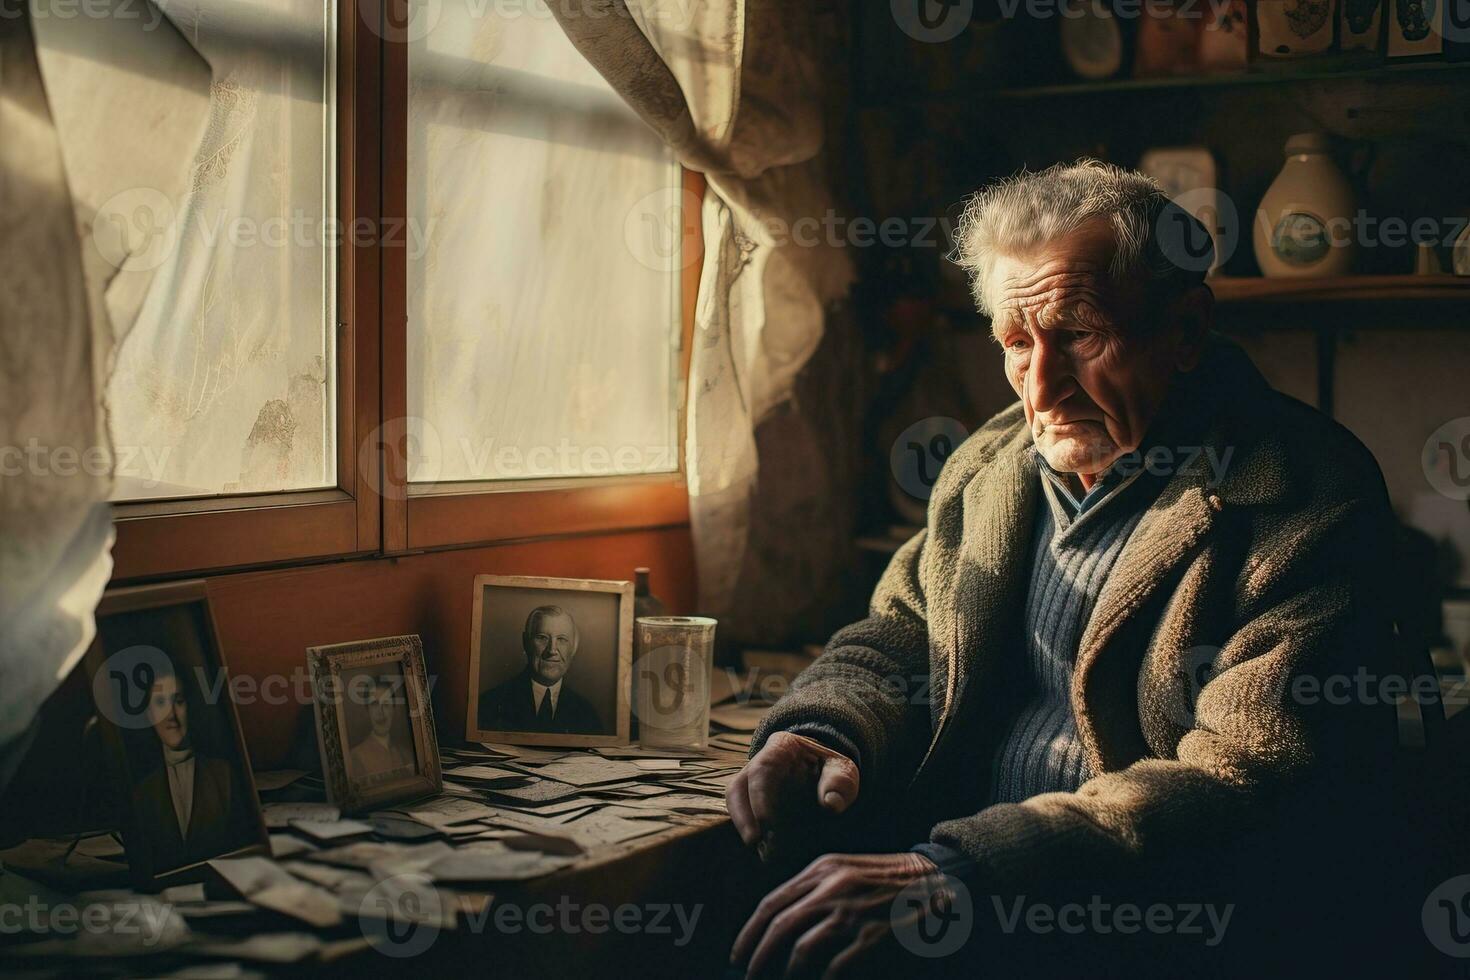
[(1138, 448), (1175, 369), (1192, 366), (1176, 314), (1163, 311), (1150, 329), (1142, 285), (1108, 278), (1113, 251), (1108, 225), (1089, 222), (1025, 256), (998, 256), (986, 284), (1005, 378), (1036, 448), (1085, 483)]

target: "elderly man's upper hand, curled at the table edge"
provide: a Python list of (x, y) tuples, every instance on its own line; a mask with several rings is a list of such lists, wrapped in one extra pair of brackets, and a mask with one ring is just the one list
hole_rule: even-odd
[(773, 826), (800, 820), (811, 804), (839, 814), (857, 799), (857, 765), (828, 746), (776, 732), (725, 790), (739, 839), (759, 843)]

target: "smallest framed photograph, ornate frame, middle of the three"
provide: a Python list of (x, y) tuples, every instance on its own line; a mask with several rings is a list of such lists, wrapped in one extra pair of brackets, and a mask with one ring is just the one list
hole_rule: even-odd
[(417, 636), (310, 646), (306, 664), (331, 802), (360, 813), (444, 788)]

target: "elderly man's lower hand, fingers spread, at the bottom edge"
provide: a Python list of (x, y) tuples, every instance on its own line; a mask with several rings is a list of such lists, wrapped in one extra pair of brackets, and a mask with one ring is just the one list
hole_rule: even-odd
[(866, 974), (892, 952), (898, 893), (926, 876), (938, 868), (913, 852), (820, 857), (761, 901), (731, 962), (753, 979)]

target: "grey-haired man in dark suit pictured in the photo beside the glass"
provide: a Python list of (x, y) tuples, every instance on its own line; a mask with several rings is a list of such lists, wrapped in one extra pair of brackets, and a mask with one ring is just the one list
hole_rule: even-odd
[(479, 696), (479, 727), (559, 735), (604, 732), (591, 702), (564, 683), (579, 641), (576, 621), (560, 605), (531, 610), (520, 632), (525, 670)]

